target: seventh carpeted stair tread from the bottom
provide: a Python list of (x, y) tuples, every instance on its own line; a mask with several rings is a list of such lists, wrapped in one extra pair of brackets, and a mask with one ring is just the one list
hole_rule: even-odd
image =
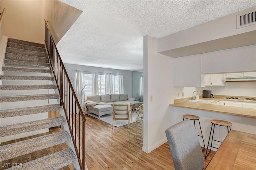
[(0, 80), (49, 80), (49, 81), (54, 81), (54, 77), (0, 75)]

